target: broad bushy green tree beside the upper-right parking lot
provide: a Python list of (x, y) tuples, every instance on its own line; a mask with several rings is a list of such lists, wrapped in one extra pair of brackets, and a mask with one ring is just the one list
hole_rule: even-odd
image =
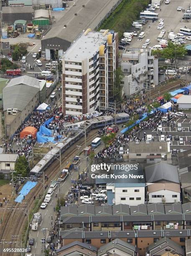
[(168, 41), (168, 46), (161, 51), (161, 56), (165, 59), (170, 59), (171, 63), (175, 61), (177, 58), (183, 58), (187, 54), (187, 49), (183, 44), (176, 45), (171, 41)]

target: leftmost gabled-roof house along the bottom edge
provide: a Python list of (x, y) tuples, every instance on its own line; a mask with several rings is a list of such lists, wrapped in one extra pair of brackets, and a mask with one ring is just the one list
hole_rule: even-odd
[(83, 256), (97, 256), (97, 248), (89, 245), (87, 243), (81, 243), (79, 241), (74, 241), (60, 249), (56, 250), (56, 255), (66, 256), (66, 255), (83, 255)]

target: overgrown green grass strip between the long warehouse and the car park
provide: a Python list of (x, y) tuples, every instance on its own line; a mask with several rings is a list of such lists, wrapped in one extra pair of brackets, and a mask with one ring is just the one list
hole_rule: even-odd
[(132, 21), (139, 19), (140, 12), (149, 4), (149, 0), (123, 0), (120, 5), (104, 20), (100, 29), (117, 31), (121, 38), (123, 32), (132, 26)]

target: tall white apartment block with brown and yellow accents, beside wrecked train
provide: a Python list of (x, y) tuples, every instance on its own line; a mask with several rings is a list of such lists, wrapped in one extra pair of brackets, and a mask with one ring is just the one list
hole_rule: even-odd
[(81, 115), (108, 108), (118, 61), (118, 34), (87, 29), (63, 55), (64, 115)]

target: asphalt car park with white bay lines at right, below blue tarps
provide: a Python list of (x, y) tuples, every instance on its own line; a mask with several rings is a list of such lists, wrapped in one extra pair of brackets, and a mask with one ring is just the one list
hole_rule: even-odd
[[(187, 118), (172, 118), (169, 124), (162, 122), (162, 131), (158, 131), (157, 128), (153, 130), (143, 130), (140, 132), (140, 137), (144, 138), (145, 132), (146, 135), (151, 134), (154, 141), (161, 141), (161, 135), (164, 135), (165, 141), (168, 141), (168, 138), (171, 137), (171, 151), (173, 149), (178, 151), (191, 149), (191, 113), (186, 113), (186, 115)], [(181, 123), (182, 131), (177, 131), (178, 123)], [(180, 138), (182, 138), (181, 143)]]

